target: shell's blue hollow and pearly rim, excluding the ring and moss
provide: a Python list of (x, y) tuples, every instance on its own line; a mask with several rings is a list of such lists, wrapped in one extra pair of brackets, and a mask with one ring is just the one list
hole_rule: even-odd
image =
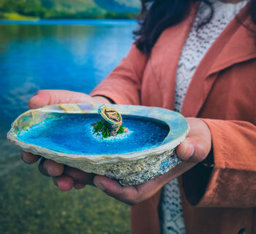
[[(150, 106), (115, 105), (129, 133), (101, 139), (92, 133), (91, 123), (101, 117), (100, 104), (58, 104), (31, 109), (12, 123), (7, 134), (26, 152), (61, 160), (83, 158), (105, 163), (139, 160), (175, 149), (189, 131), (178, 112)], [(151, 157), (151, 156), (150, 156)]]

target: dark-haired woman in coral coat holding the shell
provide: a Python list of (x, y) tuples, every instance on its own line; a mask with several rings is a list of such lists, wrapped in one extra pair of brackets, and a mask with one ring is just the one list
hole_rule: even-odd
[(135, 205), (132, 233), (256, 233), (255, 12), (255, 0), (143, 1), (135, 44), (91, 96), (41, 90), (29, 101), (31, 108), (89, 102), (175, 109), (191, 128), (177, 147), (184, 161), (176, 168), (135, 187), (51, 160), (42, 159), (39, 170), (61, 190), (91, 184)]

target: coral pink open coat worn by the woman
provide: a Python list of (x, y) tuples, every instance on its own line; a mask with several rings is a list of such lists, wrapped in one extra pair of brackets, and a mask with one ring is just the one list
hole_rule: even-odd
[[(178, 58), (196, 9), (162, 33), (149, 57), (132, 45), (91, 95), (173, 109)], [(246, 7), (238, 18), (200, 62), (182, 107), (185, 117), (206, 121), (214, 154), (212, 170), (197, 165), (182, 176), (187, 234), (236, 234), (243, 228), (256, 233), (256, 47), (241, 24), (251, 23)], [(132, 233), (160, 233), (159, 197), (160, 191), (132, 207)]]

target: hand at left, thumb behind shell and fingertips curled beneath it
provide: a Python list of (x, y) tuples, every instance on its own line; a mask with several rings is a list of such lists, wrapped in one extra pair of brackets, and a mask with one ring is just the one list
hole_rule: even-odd
[[(91, 97), (85, 93), (72, 92), (67, 90), (39, 90), (30, 100), (29, 107), (37, 109), (42, 106), (54, 104), (110, 104), (108, 98), (102, 96)], [(38, 155), (32, 155), (29, 152), (21, 152), (21, 158), (25, 163), (36, 163), (39, 159), (39, 171), (44, 176), (53, 176), (53, 182), (60, 190), (68, 191), (81, 189), (86, 184), (93, 184), (94, 174), (85, 173), (76, 168), (64, 166), (53, 160), (47, 160)]]

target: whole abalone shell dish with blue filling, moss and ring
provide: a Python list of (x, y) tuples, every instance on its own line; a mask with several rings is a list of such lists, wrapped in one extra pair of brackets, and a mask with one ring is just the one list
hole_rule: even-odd
[(58, 104), (20, 114), (7, 139), (26, 152), (128, 186), (181, 163), (175, 149), (188, 132), (181, 114), (159, 107)]

